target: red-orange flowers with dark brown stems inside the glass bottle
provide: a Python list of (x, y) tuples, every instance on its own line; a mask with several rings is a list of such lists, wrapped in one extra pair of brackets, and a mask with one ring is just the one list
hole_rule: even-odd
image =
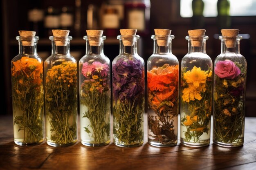
[(149, 135), (149, 139), (162, 144), (173, 143), (177, 140), (174, 121), (178, 107), (179, 66), (164, 64), (148, 71), (147, 76), (148, 106), (153, 110), (153, 115), (148, 115), (148, 128), (154, 134)]

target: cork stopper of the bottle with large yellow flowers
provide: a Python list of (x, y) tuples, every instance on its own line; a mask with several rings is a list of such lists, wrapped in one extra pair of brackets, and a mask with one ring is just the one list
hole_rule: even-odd
[(191, 36), (191, 45), (192, 46), (202, 46), (203, 36), (205, 34), (205, 29), (193, 29), (189, 30), (189, 36)]

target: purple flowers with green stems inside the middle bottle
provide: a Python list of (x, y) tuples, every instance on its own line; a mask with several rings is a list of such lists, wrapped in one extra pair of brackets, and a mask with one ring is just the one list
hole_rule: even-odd
[(143, 142), (143, 61), (117, 60), (112, 65), (114, 137), (119, 144)]

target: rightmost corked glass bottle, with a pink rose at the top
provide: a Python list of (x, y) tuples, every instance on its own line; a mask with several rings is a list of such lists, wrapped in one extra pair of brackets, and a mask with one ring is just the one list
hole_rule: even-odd
[(213, 143), (237, 147), (244, 143), (247, 62), (240, 54), (239, 30), (221, 32), (221, 53), (214, 61)]

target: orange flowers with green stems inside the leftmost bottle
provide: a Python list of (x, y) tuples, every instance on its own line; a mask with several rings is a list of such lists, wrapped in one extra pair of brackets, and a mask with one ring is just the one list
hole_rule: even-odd
[(12, 61), (11, 82), (14, 126), (19, 140), (38, 143), (44, 137), (43, 62), (26, 56)]

